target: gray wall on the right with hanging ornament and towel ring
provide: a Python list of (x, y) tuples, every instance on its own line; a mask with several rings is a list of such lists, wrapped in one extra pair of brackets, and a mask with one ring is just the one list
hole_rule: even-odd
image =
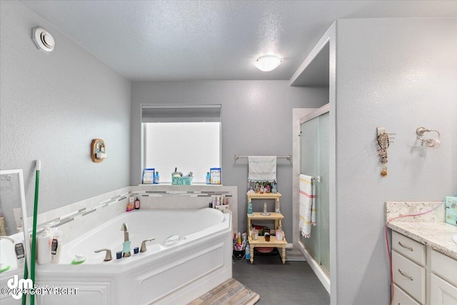
[[(341, 19), (336, 34), (332, 304), (388, 304), (384, 202), (457, 193), (457, 21)], [(396, 134), (386, 178), (378, 126)], [(419, 126), (441, 132), (438, 149), (420, 146)]]

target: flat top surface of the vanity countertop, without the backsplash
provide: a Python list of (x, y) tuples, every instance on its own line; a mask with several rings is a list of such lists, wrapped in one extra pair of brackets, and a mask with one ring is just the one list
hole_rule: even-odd
[(457, 259), (457, 244), (452, 240), (457, 234), (457, 226), (438, 221), (391, 221), (388, 228)]

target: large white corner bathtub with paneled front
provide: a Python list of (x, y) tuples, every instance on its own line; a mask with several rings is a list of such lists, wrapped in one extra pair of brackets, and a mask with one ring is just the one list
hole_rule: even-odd
[[(116, 259), (126, 223), (131, 256)], [(179, 234), (175, 244), (166, 237)], [(124, 213), (65, 244), (59, 264), (37, 265), (39, 286), (77, 288), (76, 295), (37, 296), (41, 304), (187, 304), (232, 276), (231, 214), (216, 209)], [(141, 241), (147, 251), (134, 254)], [(111, 249), (113, 260), (104, 262)], [(73, 265), (75, 255), (86, 257)]]

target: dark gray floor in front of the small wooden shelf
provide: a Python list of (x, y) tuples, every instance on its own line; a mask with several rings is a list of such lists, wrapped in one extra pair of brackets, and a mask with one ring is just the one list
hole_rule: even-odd
[(254, 264), (233, 260), (233, 279), (260, 295), (256, 305), (328, 305), (330, 295), (306, 261), (256, 255)]

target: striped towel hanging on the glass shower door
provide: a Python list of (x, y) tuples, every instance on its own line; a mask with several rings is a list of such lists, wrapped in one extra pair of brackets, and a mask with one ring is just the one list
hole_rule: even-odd
[(316, 226), (316, 183), (314, 177), (300, 174), (300, 221), (301, 235), (311, 237), (311, 225)]

